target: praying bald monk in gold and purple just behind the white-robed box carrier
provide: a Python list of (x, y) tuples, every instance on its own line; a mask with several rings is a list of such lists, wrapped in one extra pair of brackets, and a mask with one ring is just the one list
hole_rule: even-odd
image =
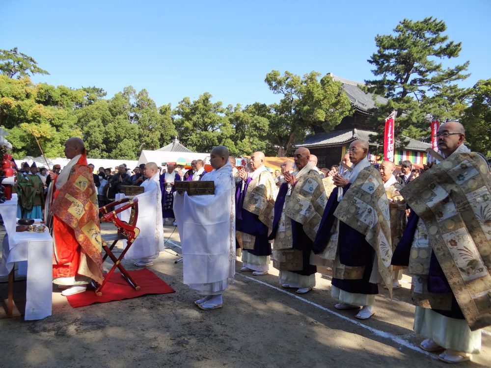
[(250, 158), (253, 170), (239, 170), (242, 181), (236, 187), (236, 237), (242, 251), (241, 271), (255, 276), (268, 273), (271, 244), (268, 234), (273, 223), (277, 188), (264, 166), (264, 153), (254, 152)]

